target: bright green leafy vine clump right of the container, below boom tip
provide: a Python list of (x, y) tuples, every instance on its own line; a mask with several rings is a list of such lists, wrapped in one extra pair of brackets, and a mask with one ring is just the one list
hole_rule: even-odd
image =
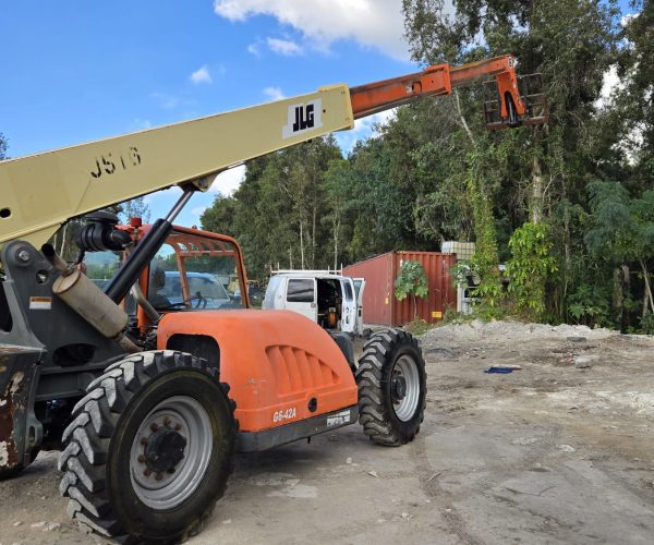
[(507, 264), (509, 292), (517, 312), (538, 322), (545, 314), (545, 282), (558, 270), (552, 256), (554, 243), (547, 223), (524, 223), (509, 240), (512, 257)]

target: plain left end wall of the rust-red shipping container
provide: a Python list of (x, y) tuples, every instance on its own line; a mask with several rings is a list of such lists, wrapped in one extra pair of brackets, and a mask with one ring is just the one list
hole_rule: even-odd
[(393, 299), (393, 254), (382, 254), (343, 268), (343, 276), (365, 278), (363, 291), (364, 324), (391, 326)]

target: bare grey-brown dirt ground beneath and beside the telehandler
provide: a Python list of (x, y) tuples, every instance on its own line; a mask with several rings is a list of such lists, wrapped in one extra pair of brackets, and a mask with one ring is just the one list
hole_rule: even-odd
[[(187, 543), (654, 541), (654, 339), (471, 323), (421, 344), (429, 390), (415, 441), (375, 447), (354, 425), (240, 456)], [(0, 483), (2, 544), (105, 543), (69, 521), (56, 463), (44, 452)]]

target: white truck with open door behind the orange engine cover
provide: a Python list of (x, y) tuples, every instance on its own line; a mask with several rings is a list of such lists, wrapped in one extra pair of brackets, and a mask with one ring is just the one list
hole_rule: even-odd
[(294, 311), (323, 328), (363, 335), (365, 279), (331, 270), (274, 271), (263, 308)]

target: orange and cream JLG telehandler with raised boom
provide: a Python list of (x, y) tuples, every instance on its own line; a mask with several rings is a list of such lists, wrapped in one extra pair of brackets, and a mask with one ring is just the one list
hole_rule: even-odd
[[(71, 517), (170, 542), (202, 526), (235, 451), (356, 421), (376, 444), (411, 441), (426, 377), (409, 334), (374, 335), (356, 363), (342, 334), (249, 310), (237, 241), (173, 221), (227, 168), (486, 77), (492, 129), (545, 121), (498, 57), (0, 162), (0, 476), (60, 449)], [(153, 225), (102, 211), (173, 185), (179, 201)], [(81, 216), (68, 263), (48, 240)]]

